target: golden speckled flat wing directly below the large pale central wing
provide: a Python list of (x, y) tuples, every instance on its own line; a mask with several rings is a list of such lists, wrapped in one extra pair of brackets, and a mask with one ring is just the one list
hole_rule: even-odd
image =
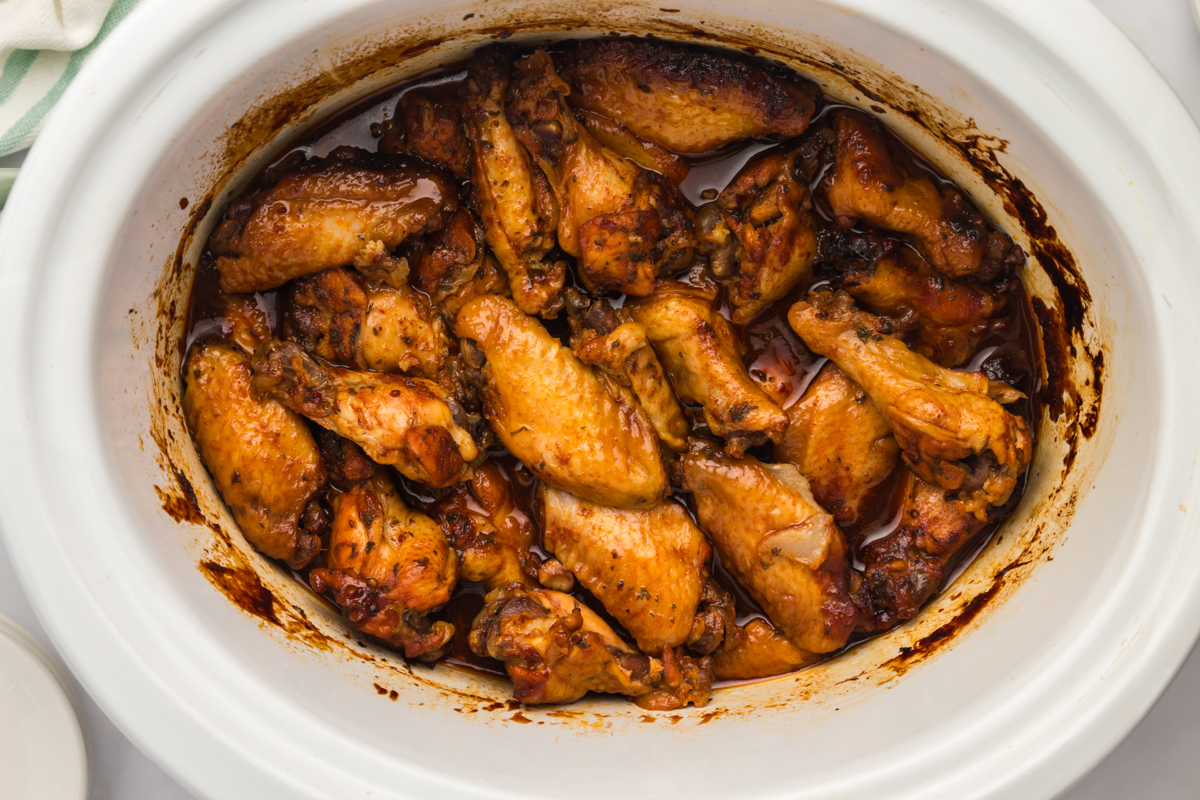
[[(686, 509), (673, 500), (646, 511), (611, 509), (542, 486), (538, 510), (542, 547), (630, 632), (638, 650), (661, 655), (689, 640), (713, 549)], [(724, 634), (710, 640), (719, 644)]]

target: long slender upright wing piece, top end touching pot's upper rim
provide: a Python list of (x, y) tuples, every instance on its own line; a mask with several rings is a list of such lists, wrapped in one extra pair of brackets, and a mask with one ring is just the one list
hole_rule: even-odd
[(472, 192), (512, 299), (527, 314), (554, 317), (566, 279), (566, 264), (547, 258), (556, 243), (558, 204), (505, 116), (512, 58), (504, 46), (485, 47), (467, 67), (463, 122)]

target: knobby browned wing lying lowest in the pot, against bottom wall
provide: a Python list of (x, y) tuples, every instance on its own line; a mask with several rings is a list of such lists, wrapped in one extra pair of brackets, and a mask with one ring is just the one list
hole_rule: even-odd
[[(470, 649), (504, 662), (522, 703), (570, 703), (588, 692), (626, 694), (667, 710), (708, 702), (709, 658), (664, 660), (630, 648), (570, 595), (520, 587), (497, 589), (470, 630)], [(666, 662), (670, 661), (670, 664)]]

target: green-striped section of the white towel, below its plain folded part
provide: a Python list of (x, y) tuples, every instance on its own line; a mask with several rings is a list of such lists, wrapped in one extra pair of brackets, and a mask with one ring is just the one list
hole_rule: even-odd
[[(0, 156), (23, 150), (34, 143), (46, 115), (79, 72), (84, 60), (137, 2), (138, 0), (115, 0), (96, 38), (78, 50), (14, 49), (7, 53), (4, 67), (0, 67)], [(0, 187), (0, 193), (6, 193), (4, 187)]]

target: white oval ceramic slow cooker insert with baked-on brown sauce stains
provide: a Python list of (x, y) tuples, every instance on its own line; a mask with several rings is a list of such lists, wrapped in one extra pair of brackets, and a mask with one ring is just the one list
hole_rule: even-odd
[[(62, 97), (0, 228), (0, 521), (72, 669), (191, 790), (1049, 798), (1190, 650), (1200, 136), (1163, 80), (1085, 0), (672, 5), (145, 0)], [(178, 410), (199, 246), (289, 137), (497, 35), (610, 30), (752, 44), (876, 107), (1042, 252), (1027, 285), (1070, 326), (1024, 503), (920, 618), (661, 715), (515, 709), (504, 682), (356, 643), (241, 541)], [(1037, 230), (995, 191), (1015, 181)], [(1049, 228), (1081, 279), (1051, 279)]]

